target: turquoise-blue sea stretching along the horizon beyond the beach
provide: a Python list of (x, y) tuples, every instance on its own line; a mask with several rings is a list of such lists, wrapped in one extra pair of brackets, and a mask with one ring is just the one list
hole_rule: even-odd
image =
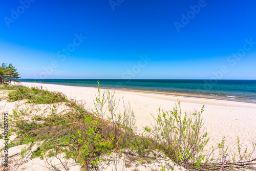
[[(97, 87), (97, 79), (19, 79), (66, 86)], [(256, 80), (99, 79), (101, 88), (183, 93), (256, 102)]]

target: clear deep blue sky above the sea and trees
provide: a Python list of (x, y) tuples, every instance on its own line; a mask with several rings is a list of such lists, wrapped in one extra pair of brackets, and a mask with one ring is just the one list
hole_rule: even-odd
[(10, 0), (0, 18), (23, 78), (256, 79), (253, 0)]

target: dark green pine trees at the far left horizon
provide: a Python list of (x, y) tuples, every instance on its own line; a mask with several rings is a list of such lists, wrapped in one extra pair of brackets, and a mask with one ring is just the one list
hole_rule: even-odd
[(0, 66), (0, 82), (1, 84), (4, 83), (11, 83), (11, 81), (17, 82), (17, 79), (21, 78), (19, 76), (19, 73), (17, 72), (17, 69), (12, 66), (10, 63), (8, 66), (6, 63), (2, 63), (2, 66)]

